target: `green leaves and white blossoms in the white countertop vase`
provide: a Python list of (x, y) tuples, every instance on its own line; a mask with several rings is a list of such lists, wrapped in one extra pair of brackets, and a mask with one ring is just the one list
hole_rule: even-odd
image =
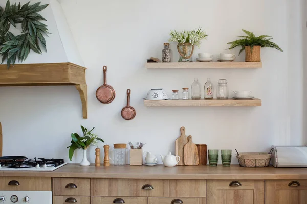
[(95, 127), (92, 128), (92, 130), (88, 131), (86, 128), (81, 126), (83, 137), (80, 137), (77, 133), (72, 133), (72, 141), (71, 145), (67, 148), (69, 148), (69, 159), (72, 161), (74, 151), (76, 149), (87, 149), (90, 145), (97, 146), (98, 142), (97, 140), (104, 142), (101, 138), (98, 137), (95, 133), (92, 133)]

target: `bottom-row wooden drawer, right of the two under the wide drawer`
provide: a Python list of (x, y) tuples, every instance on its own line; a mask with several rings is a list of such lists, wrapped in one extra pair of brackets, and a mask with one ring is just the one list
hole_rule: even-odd
[(170, 198), (150, 197), (148, 198), (148, 204), (179, 204), (179, 203), (206, 204), (206, 198), (183, 198), (183, 197), (170, 197)]

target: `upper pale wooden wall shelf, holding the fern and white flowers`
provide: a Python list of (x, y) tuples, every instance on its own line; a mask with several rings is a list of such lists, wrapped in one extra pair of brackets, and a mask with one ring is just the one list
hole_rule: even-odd
[(262, 62), (147, 62), (147, 69), (261, 68)]

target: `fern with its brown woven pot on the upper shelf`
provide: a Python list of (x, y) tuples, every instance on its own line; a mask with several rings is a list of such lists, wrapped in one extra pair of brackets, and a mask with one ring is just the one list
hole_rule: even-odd
[(245, 50), (245, 61), (246, 62), (261, 62), (260, 58), (260, 49), (261, 47), (269, 47), (274, 48), (282, 52), (282, 49), (272, 42), (272, 36), (269, 35), (260, 35), (258, 37), (255, 36), (253, 32), (242, 29), (242, 31), (246, 34), (245, 36), (238, 36), (239, 40), (235, 40), (232, 42), (228, 42), (227, 44), (231, 44), (228, 49), (233, 49), (237, 46), (241, 46), (239, 55)]

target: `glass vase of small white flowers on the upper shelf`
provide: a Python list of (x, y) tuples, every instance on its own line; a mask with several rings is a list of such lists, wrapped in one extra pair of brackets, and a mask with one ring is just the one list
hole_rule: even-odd
[(206, 39), (208, 36), (206, 32), (202, 31), (202, 28), (194, 29), (192, 31), (176, 31), (171, 30), (169, 42), (177, 42), (177, 50), (179, 52), (178, 62), (192, 62), (192, 55), (194, 52), (194, 46), (201, 46), (201, 40)]

